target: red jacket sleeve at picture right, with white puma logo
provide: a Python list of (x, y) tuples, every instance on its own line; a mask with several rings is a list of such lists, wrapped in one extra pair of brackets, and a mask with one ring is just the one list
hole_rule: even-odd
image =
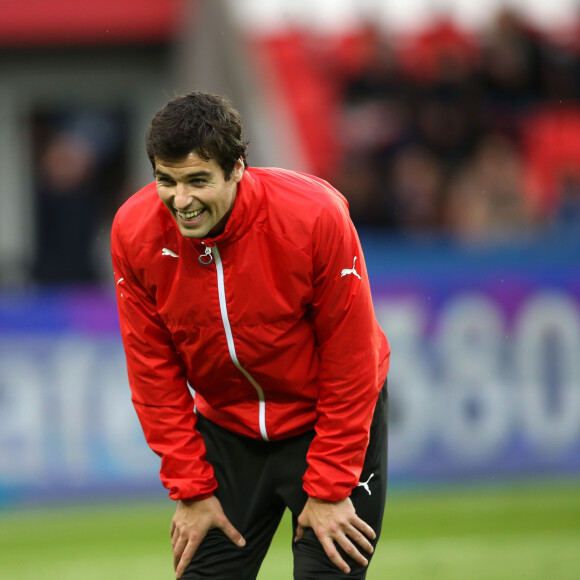
[(358, 484), (378, 393), (380, 334), (365, 261), (346, 203), (320, 216), (313, 233), (312, 303), (319, 345), (316, 435), (304, 489), (338, 501)]

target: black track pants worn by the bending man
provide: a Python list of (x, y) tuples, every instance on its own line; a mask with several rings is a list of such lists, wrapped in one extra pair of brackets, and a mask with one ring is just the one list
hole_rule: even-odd
[[(361, 484), (351, 494), (357, 515), (377, 532), (373, 545), (381, 531), (387, 493), (387, 401), (385, 385), (373, 417)], [(226, 516), (244, 536), (246, 546), (239, 548), (221, 530), (210, 530), (182, 578), (255, 579), (286, 507), (292, 512), (292, 538), (296, 533), (297, 518), (307, 499), (302, 476), (314, 432), (282, 441), (253, 440), (234, 435), (202, 416), (198, 416), (198, 429), (218, 481), (215, 495)], [(300, 541), (292, 543), (292, 551), (296, 580), (366, 575), (366, 568), (344, 553), (351, 573), (340, 572), (311, 529)], [(370, 558), (369, 554), (364, 555)]]

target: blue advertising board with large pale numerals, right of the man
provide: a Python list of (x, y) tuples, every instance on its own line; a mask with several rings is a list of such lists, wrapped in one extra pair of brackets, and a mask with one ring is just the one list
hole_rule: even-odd
[(580, 474), (580, 243), (369, 250), (391, 477)]

